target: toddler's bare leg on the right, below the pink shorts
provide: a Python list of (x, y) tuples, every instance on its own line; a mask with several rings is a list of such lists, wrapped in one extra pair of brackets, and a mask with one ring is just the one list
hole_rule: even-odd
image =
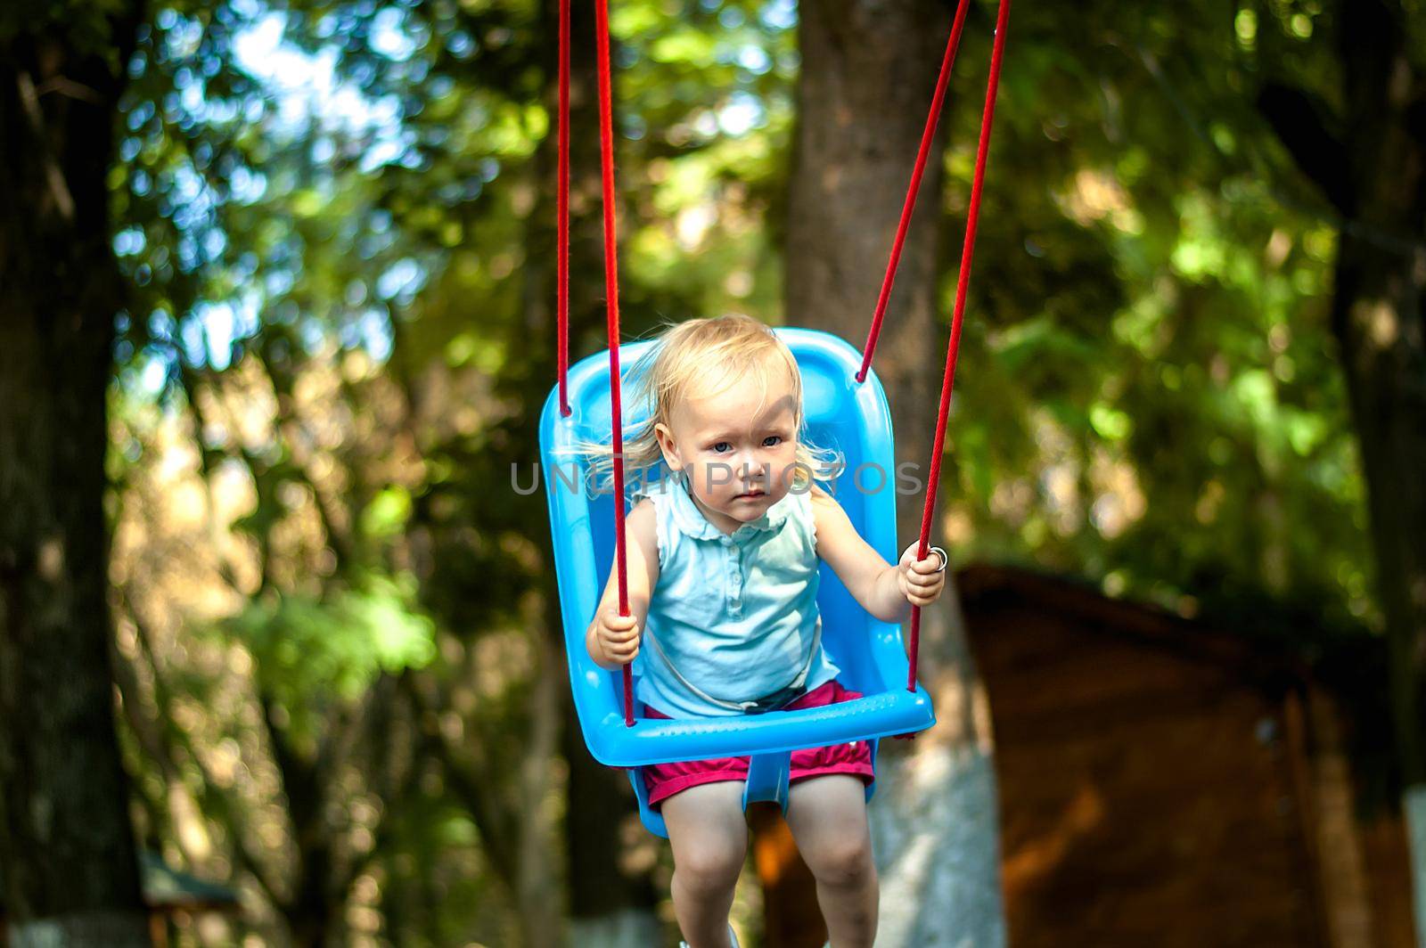
[(866, 795), (866, 784), (850, 774), (791, 785), (787, 825), (817, 878), (831, 948), (871, 948), (877, 934), (877, 868)]

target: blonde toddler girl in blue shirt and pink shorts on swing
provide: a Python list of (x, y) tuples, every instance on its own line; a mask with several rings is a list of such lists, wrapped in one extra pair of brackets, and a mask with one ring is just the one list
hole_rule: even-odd
[[(630, 372), (647, 422), (625, 442), (637, 485), (626, 519), (629, 616), (610, 570), (586, 634), (616, 670), (640, 651), (636, 696), (647, 717), (716, 717), (861, 697), (821, 649), (817, 566), (826, 560), (873, 616), (901, 622), (937, 600), (945, 555), (888, 565), (837, 500), (813, 483), (830, 452), (807, 443), (801, 375), (763, 324), (730, 315), (669, 329)], [(593, 465), (609, 466), (609, 448)], [(637, 482), (636, 482), (637, 483)], [(640, 633), (646, 633), (640, 639)], [(867, 830), (866, 741), (791, 754), (787, 824), (817, 880), (831, 945), (870, 948), (877, 877)], [(729, 948), (733, 888), (747, 847), (747, 758), (645, 767), (649, 805), (673, 847), (673, 907), (684, 944)]]

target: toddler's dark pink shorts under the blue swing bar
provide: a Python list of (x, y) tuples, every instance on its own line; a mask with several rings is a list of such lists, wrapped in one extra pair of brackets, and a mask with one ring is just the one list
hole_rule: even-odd
[[(861, 697), (861, 691), (851, 691), (837, 681), (827, 681), (796, 701), (790, 701), (783, 710), (799, 707), (821, 707), (823, 704), (837, 704)], [(645, 707), (647, 717), (667, 718), (652, 707)], [(787, 768), (789, 783), (797, 783), (807, 777), (821, 777), (823, 774), (851, 774), (861, 777), (870, 784), (876, 780), (871, 770), (871, 744), (868, 741), (851, 741), (850, 744), (833, 744), (831, 747), (810, 747), (794, 750)], [(659, 803), (689, 787), (699, 784), (713, 784), (723, 780), (747, 780), (747, 757), (719, 757), (714, 760), (682, 760), (673, 764), (649, 764), (643, 768), (643, 781), (649, 788), (649, 805), (657, 808)]]

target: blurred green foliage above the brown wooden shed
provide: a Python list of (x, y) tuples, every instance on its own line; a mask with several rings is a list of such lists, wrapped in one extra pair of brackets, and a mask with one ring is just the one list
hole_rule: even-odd
[[(963, 556), (1372, 619), (1333, 225), (1252, 108), (1261, 66), (1218, 9), (1081, 13), (1011, 17), (951, 428)], [(953, 201), (981, 40), (953, 88)]]

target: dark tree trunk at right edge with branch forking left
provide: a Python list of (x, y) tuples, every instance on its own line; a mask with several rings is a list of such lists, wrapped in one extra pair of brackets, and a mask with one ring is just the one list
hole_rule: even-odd
[[(1332, 331), (1368, 485), (1416, 925), (1426, 938), (1426, 76), (1396, 3), (1338, 4), (1342, 103), (1268, 84), (1278, 137), (1346, 221)], [(1340, 135), (1332, 128), (1343, 128)]]

